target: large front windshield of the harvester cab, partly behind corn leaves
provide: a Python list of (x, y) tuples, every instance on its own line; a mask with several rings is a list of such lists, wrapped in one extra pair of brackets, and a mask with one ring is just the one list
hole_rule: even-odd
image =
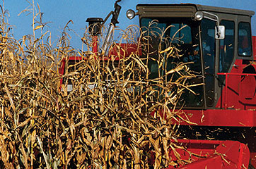
[[(176, 46), (179, 49), (178, 58), (168, 58), (166, 60), (165, 72), (175, 68), (178, 63), (187, 63), (192, 73), (197, 75), (196, 78), (188, 79), (187, 84), (199, 84), (203, 82), (202, 78), (202, 61), (199, 46), (199, 23), (194, 22), (191, 18), (141, 18), (141, 29), (147, 32), (145, 35), (151, 37), (151, 48), (149, 49), (150, 57), (148, 67), (151, 71), (150, 79), (163, 75), (158, 70), (158, 62), (156, 61), (158, 45), (161, 43), (161, 48), (168, 46)], [(160, 41), (162, 37), (162, 40)], [(164, 39), (164, 40), (163, 40)], [(168, 75), (168, 80), (170, 80)], [(175, 75), (174, 75), (175, 76)], [(178, 78), (178, 75), (176, 75)], [(203, 86), (199, 85), (191, 87), (192, 91), (185, 90), (179, 101), (179, 106), (185, 108), (199, 108), (204, 105), (203, 101)]]

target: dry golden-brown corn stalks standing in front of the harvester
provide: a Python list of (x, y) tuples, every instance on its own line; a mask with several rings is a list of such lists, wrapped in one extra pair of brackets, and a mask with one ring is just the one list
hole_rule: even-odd
[[(40, 11), (39, 6), (33, 9)], [(38, 12), (35, 18), (40, 17)], [(190, 163), (175, 150), (183, 149), (175, 140), (180, 120), (187, 120), (176, 106), (195, 75), (189, 63), (165, 68), (169, 58), (180, 57), (179, 50), (150, 27), (131, 26), (120, 31), (120, 42), (136, 43), (135, 52), (124, 57), (126, 49), (113, 41), (110, 51), (117, 55), (100, 56), (91, 51), (87, 30), (84, 49), (72, 48), (68, 25), (56, 47), (44, 24), (34, 20), (34, 35), (16, 40), (1, 11), (0, 168), (168, 168)], [(155, 51), (153, 37), (160, 37)], [(81, 59), (68, 64), (71, 56)], [(158, 66), (153, 79), (149, 61)], [(65, 70), (59, 73), (62, 64)], [(176, 152), (175, 161), (170, 151)]]

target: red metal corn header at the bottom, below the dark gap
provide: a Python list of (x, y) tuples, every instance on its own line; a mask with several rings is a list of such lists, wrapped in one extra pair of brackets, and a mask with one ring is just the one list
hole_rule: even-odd
[[(179, 168), (248, 168), (249, 165), (248, 146), (240, 142), (181, 139), (178, 140), (178, 144), (186, 147), (175, 149), (180, 154), (180, 159), (193, 161), (187, 165), (180, 165)], [(169, 155), (174, 161), (178, 160), (172, 149)]]

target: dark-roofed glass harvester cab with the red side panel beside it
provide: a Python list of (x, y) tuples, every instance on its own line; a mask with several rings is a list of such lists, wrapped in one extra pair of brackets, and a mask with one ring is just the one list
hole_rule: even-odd
[[(183, 94), (181, 105), (185, 104), (188, 109), (256, 108), (255, 83), (250, 93), (243, 94), (241, 87), (246, 86), (246, 80), (241, 75), (237, 75), (240, 82), (235, 81), (237, 98), (233, 95), (229, 98), (229, 91), (226, 91), (227, 96), (223, 95), (225, 87), (230, 88), (226, 84), (226, 73), (255, 73), (255, 68), (250, 65), (253, 61), (250, 30), (253, 11), (195, 4), (140, 4), (136, 8), (141, 29), (155, 32), (151, 34), (154, 41), (157, 33), (161, 35), (161, 30), (166, 29), (161, 36), (169, 39), (170, 45), (177, 46), (182, 55), (176, 62), (193, 62), (188, 65), (198, 73), (198, 78), (192, 83), (205, 84), (194, 87), (197, 95), (189, 91)], [(131, 10), (127, 13), (129, 18), (135, 15)], [(152, 43), (155, 42), (152, 40)], [(157, 71), (154, 64), (153, 61), (149, 64), (152, 78), (157, 76), (153, 73)], [(245, 69), (245, 65), (249, 68)]]

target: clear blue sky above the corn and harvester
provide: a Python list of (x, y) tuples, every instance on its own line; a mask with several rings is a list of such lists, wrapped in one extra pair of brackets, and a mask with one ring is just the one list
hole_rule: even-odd
[[(32, 0), (29, 0), (32, 1)], [(69, 20), (73, 20), (74, 24), (69, 27), (76, 33), (71, 32), (71, 46), (76, 49), (81, 48), (80, 37), (83, 36), (85, 30), (86, 18), (99, 17), (105, 18), (106, 15), (113, 10), (115, 0), (34, 0), (35, 4), (39, 4), (43, 14), (43, 22), (51, 22), (45, 30), (52, 32), (52, 39), (57, 39), (61, 35), (62, 28)], [(138, 25), (139, 19), (133, 20), (126, 18), (127, 9), (131, 8), (136, 11), (136, 4), (180, 4), (194, 3), (209, 6), (221, 6), (227, 8), (239, 8), (256, 12), (256, 0), (122, 0), (120, 5), (120, 23), (117, 25), (121, 29), (125, 29), (128, 25)], [(1, 4), (2, 1), (1, 1)], [(20, 39), (23, 35), (32, 34), (32, 15), (23, 13), (18, 16), (25, 8), (29, 6), (26, 0), (5, 0), (5, 9), (8, 10), (8, 23), (13, 25), (13, 35), (16, 39)], [(109, 20), (108, 20), (109, 21)], [(252, 35), (256, 36), (256, 16), (252, 17)], [(80, 37), (79, 37), (80, 36)]]

